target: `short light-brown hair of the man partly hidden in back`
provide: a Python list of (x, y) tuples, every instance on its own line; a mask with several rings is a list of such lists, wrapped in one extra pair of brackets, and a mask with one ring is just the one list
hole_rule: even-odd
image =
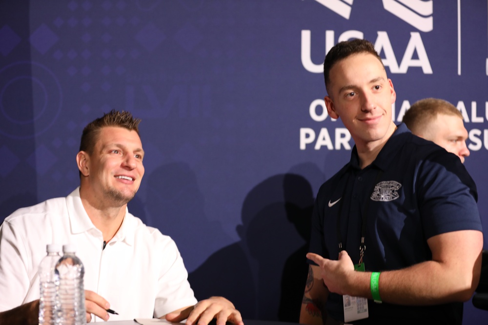
[(461, 112), (448, 101), (439, 98), (424, 98), (410, 106), (403, 116), (402, 122), (413, 134), (419, 134), (439, 114), (458, 116), (463, 119)]

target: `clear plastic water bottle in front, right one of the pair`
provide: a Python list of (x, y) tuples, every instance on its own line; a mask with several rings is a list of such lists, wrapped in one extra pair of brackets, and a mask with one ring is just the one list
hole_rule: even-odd
[(73, 245), (63, 245), (63, 256), (56, 264), (59, 276), (59, 299), (62, 325), (86, 324), (85, 291), (83, 276), (85, 270), (81, 260), (75, 255)]

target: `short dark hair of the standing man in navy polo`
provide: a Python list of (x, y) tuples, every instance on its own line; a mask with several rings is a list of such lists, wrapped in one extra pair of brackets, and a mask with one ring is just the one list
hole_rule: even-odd
[[(338, 61), (345, 59), (353, 54), (359, 53), (369, 53), (374, 55), (378, 60), (380, 60), (381, 64), (383, 65), (383, 61), (381, 60), (380, 55), (374, 49), (373, 43), (366, 39), (352, 39), (352, 40), (345, 40), (342, 42), (337, 43), (334, 47), (330, 49), (324, 59), (324, 81), (325, 81), (325, 89), (327, 89), (328, 93), (328, 85), (330, 83), (330, 69), (336, 64)], [(383, 67), (385, 67), (383, 65)]]

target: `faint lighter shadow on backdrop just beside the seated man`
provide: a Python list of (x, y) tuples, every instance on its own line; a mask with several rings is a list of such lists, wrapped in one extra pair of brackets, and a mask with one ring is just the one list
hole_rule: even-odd
[(166, 164), (146, 177), (144, 221), (171, 236), (188, 272), (201, 265), (211, 253), (232, 242), (218, 221), (207, 219), (203, 194), (188, 164)]

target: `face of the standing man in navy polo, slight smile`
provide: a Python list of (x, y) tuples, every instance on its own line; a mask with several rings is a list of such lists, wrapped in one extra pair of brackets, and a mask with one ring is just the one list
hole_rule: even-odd
[(396, 94), (380, 60), (353, 54), (336, 62), (329, 78), (328, 114), (341, 118), (358, 150), (384, 144), (396, 128), (391, 119)]

